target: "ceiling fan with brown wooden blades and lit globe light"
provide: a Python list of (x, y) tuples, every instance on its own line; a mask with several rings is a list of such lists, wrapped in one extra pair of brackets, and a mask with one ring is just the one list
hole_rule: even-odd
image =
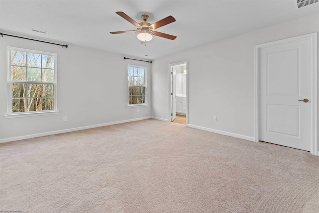
[(153, 35), (160, 36), (163, 38), (168, 38), (170, 40), (174, 40), (176, 38), (176, 36), (174, 36), (174, 35), (169, 35), (166, 33), (154, 31), (155, 29), (160, 28), (161, 26), (164, 26), (166, 24), (174, 22), (175, 18), (171, 15), (169, 15), (169, 16), (167, 16), (167, 17), (165, 17), (165, 18), (163, 18), (163, 19), (161, 19), (153, 24), (150, 24), (149, 22), (147, 22), (147, 20), (149, 19), (149, 16), (146, 14), (142, 15), (142, 20), (144, 20), (144, 22), (141, 22), (141, 23), (136, 22), (135, 20), (133, 20), (130, 16), (128, 16), (124, 12), (116, 12), (116, 14), (120, 15), (122, 18), (126, 19), (127, 21), (129, 21), (130, 23), (135, 25), (137, 27), (137, 29), (136, 30), (110, 32), (111, 34), (138, 32), (138, 39), (141, 40), (141, 42), (145, 43), (145, 45), (146, 45), (146, 42), (152, 40)]

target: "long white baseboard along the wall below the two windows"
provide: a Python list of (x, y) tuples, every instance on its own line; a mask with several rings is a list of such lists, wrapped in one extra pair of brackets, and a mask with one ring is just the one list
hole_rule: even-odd
[(135, 119), (130, 119), (130, 120), (115, 121), (115, 122), (104, 123), (104, 124), (96, 124), (96, 125), (91, 125), (91, 126), (63, 129), (63, 130), (57, 130), (57, 131), (52, 131), (52, 132), (44, 132), (44, 133), (38, 133), (38, 134), (32, 134), (32, 135), (24, 135), (24, 136), (12, 137), (12, 138), (5, 138), (5, 139), (0, 139), (0, 143), (24, 140), (24, 139), (29, 139), (29, 138), (37, 138), (37, 137), (42, 137), (42, 136), (47, 136), (47, 135), (55, 135), (55, 134), (66, 133), (66, 132), (74, 132), (74, 131), (79, 131), (79, 130), (84, 130), (84, 129), (92, 129), (92, 128), (96, 128), (96, 127), (110, 126), (110, 125), (114, 125), (114, 124), (128, 123), (128, 122), (132, 122), (132, 121), (145, 120), (145, 119), (149, 119), (149, 118), (152, 118), (152, 117), (149, 116), (149, 117), (135, 118)]

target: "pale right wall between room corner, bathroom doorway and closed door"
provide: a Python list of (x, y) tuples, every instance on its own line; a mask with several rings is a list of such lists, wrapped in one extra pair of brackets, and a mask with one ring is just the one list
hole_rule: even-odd
[(189, 126), (253, 140), (254, 46), (312, 32), (318, 13), (156, 59), (152, 115), (168, 118), (167, 65), (188, 60)]

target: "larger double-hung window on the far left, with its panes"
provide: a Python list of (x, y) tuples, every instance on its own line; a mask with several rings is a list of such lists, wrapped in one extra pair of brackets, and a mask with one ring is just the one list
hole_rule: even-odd
[(8, 115), (56, 112), (57, 55), (7, 49)]

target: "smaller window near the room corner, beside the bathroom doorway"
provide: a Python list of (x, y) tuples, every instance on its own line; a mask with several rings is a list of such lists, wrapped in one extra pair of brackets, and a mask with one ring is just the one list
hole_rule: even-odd
[(146, 78), (147, 68), (128, 65), (129, 106), (147, 104)]

